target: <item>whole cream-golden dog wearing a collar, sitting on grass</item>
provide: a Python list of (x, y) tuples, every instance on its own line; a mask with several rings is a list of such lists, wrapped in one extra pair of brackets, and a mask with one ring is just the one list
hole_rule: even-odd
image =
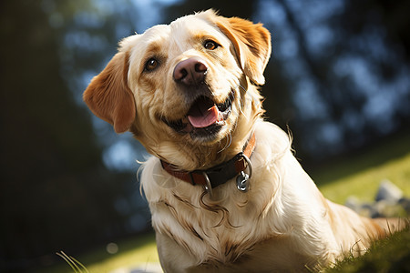
[(271, 35), (212, 10), (131, 35), (84, 93), (147, 148), (141, 183), (165, 272), (300, 271), (405, 226), (323, 197), (262, 119)]

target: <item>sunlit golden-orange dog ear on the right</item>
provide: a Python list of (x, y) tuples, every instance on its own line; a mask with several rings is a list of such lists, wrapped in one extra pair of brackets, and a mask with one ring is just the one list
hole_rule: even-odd
[(215, 23), (235, 47), (236, 56), (246, 76), (257, 85), (265, 83), (263, 70), (271, 56), (271, 34), (261, 24), (238, 17), (216, 16)]

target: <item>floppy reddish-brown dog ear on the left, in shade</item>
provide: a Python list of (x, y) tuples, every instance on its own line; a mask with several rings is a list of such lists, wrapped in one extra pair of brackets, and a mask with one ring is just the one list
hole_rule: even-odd
[(94, 115), (113, 125), (116, 133), (126, 132), (136, 115), (127, 76), (128, 53), (118, 52), (106, 68), (91, 80), (83, 95)]

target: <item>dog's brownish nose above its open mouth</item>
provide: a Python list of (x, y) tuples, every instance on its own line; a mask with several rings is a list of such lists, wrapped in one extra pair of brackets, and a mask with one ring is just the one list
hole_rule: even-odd
[(175, 66), (173, 77), (185, 86), (200, 86), (204, 83), (207, 72), (208, 66), (200, 57), (190, 57)]

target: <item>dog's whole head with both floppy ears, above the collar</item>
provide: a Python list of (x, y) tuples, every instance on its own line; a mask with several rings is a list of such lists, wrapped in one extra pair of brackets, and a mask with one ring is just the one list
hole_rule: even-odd
[[(211, 10), (188, 15), (122, 40), (84, 100), (117, 133), (131, 131), (152, 154), (199, 167), (206, 163), (194, 159), (190, 166), (188, 154), (203, 157), (205, 147), (243, 145), (262, 112), (253, 85), (264, 84), (270, 55), (271, 36), (261, 24)], [(179, 162), (180, 153), (187, 162)]]

